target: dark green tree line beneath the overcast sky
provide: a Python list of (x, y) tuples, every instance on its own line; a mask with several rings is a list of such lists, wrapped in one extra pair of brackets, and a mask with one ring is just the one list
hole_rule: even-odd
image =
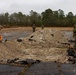
[(32, 26), (35, 24), (40, 27), (44, 25), (45, 27), (72, 27), (76, 23), (76, 15), (72, 12), (64, 14), (64, 11), (59, 9), (53, 11), (52, 9), (46, 9), (41, 13), (31, 10), (28, 15), (22, 12), (9, 14), (0, 14), (0, 25), (6, 27), (13, 26)]

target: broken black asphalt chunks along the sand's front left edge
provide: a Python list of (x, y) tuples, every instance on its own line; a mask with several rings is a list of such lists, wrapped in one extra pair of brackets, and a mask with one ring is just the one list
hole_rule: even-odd
[(14, 58), (14, 59), (7, 59), (6, 61), (5, 60), (1, 60), (0, 61), (0, 64), (9, 64), (9, 65), (33, 65), (33, 64), (38, 64), (40, 63), (41, 61), (40, 60), (33, 60), (33, 59), (25, 59), (25, 60), (22, 60), (22, 59), (19, 59), (19, 58)]

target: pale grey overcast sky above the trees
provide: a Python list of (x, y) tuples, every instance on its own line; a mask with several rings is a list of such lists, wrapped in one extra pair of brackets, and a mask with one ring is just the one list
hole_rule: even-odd
[(76, 0), (0, 0), (0, 13), (21, 11), (29, 14), (31, 10), (41, 13), (48, 8), (76, 14)]

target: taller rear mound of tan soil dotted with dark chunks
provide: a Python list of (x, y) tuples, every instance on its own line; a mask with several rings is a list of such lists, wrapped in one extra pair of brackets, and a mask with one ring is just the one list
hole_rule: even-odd
[(67, 47), (68, 44), (68, 38), (64, 32), (50, 29), (36, 31), (23, 41), (35, 47)]

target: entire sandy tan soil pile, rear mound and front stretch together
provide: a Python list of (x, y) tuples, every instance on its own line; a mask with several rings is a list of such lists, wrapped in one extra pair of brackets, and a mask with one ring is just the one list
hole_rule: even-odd
[(4, 59), (36, 59), (41, 61), (66, 62), (67, 37), (58, 30), (39, 30), (22, 41), (10, 40), (0, 43), (0, 60)]

